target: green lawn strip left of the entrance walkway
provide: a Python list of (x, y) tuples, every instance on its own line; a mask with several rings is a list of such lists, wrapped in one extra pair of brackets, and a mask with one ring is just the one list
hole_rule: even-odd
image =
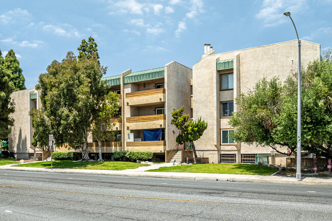
[[(37, 163), (19, 164), (15, 166), (23, 167), (43, 167), (50, 168), (51, 161), (42, 161)], [(53, 168), (67, 168), (67, 169), (109, 169), (109, 170), (123, 170), (134, 169), (140, 166), (147, 166), (140, 163), (122, 162), (122, 161), (86, 161), (75, 162), (71, 160), (55, 160), (53, 161)]]

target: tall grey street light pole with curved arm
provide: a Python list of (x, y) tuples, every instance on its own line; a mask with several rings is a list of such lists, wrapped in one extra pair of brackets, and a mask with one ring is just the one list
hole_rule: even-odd
[(291, 17), (290, 12), (284, 12), (284, 15), (290, 17), (293, 22), (297, 41), (299, 43), (299, 73), (297, 80), (297, 153), (296, 153), (296, 179), (301, 180), (301, 41), (299, 39), (299, 35), (297, 34), (297, 30), (294, 24), (294, 21)]

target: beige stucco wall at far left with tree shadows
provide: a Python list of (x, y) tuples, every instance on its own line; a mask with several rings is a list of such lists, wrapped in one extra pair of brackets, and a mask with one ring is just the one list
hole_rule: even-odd
[[(37, 93), (37, 99), (30, 100), (30, 94)], [(16, 152), (17, 159), (28, 159), (28, 153), (34, 153), (31, 142), (33, 141), (33, 128), (31, 126), (31, 117), (29, 111), (35, 107), (41, 106), (40, 91), (32, 89), (15, 91), (11, 98), (15, 103), (15, 112), (10, 116), (14, 118), (14, 125), (9, 134), (9, 151)], [(40, 151), (36, 149), (36, 152)]]

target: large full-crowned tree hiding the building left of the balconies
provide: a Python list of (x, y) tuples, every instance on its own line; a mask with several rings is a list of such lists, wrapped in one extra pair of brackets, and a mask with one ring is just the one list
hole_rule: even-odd
[(105, 81), (101, 80), (106, 69), (100, 66), (95, 53), (89, 59), (81, 56), (78, 62), (74, 53), (68, 52), (62, 62), (53, 61), (48, 66), (36, 86), (41, 91), (40, 111), (50, 121), (55, 144), (80, 148), (83, 161), (89, 160), (87, 136), (93, 116), (107, 94)]

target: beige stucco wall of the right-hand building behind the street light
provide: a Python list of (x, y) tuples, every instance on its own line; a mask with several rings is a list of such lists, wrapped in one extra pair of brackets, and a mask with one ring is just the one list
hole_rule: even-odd
[[(301, 64), (306, 67), (310, 61), (320, 58), (320, 45), (303, 40), (301, 42)], [(234, 60), (234, 89), (220, 91), (220, 73), (232, 70), (217, 71), (216, 62), (226, 59)], [(220, 129), (230, 128), (228, 119), (220, 119), (220, 102), (232, 100), (240, 93), (246, 93), (264, 76), (268, 80), (278, 76), (280, 81), (284, 81), (292, 71), (297, 72), (297, 69), (297, 40), (210, 55), (196, 63), (193, 66), (193, 118), (202, 116), (208, 123), (201, 139), (195, 142), (197, 149), (201, 150), (199, 154), (203, 151), (218, 152), (217, 155), (211, 153), (210, 162), (219, 162), (220, 153), (236, 153), (238, 162), (241, 160), (241, 154), (270, 154), (271, 148), (263, 146), (256, 147), (244, 143), (238, 143), (236, 146), (220, 145)], [(234, 111), (237, 108), (234, 104)], [(280, 159), (278, 157), (278, 162), (282, 161)]]

